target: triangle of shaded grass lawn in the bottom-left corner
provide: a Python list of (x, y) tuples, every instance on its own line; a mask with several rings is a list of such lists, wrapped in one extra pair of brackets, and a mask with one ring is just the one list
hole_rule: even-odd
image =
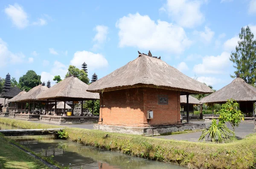
[(49, 167), (13, 146), (0, 135), (0, 169), (49, 169)]

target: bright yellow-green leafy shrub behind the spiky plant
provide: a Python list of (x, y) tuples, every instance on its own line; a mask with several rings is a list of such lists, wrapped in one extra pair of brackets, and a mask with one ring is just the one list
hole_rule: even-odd
[(235, 127), (238, 127), (241, 120), (244, 120), (244, 115), (239, 110), (239, 103), (234, 99), (227, 100), (227, 103), (222, 104), (218, 113), (220, 114), (219, 123), (230, 123), (234, 132)]

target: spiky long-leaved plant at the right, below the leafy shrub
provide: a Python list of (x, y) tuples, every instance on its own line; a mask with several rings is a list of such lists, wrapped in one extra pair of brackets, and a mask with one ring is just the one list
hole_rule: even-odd
[(204, 140), (205, 137), (208, 135), (207, 140), (209, 140), (209, 137), (211, 138), (211, 141), (214, 143), (224, 143), (224, 140), (226, 140), (228, 137), (233, 135), (234, 132), (231, 131), (226, 124), (224, 123), (218, 123), (216, 122), (216, 119), (212, 119), (212, 123), (209, 126), (209, 128), (204, 129), (202, 135), (199, 137), (198, 140)]

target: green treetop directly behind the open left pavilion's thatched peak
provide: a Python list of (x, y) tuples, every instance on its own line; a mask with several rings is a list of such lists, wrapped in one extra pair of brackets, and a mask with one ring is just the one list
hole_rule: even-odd
[(84, 72), (84, 70), (80, 70), (78, 68), (76, 68), (76, 66), (70, 65), (68, 67), (68, 72), (65, 76), (65, 78), (70, 77), (70, 76), (76, 76), (77, 78), (79, 78), (81, 81), (83, 81), (86, 84), (89, 84), (89, 78), (87, 77), (87, 73)]

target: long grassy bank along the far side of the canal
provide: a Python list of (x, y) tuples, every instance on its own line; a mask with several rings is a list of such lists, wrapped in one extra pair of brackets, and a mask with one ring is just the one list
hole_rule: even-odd
[[(0, 118), (0, 123), (3, 119), (7, 124), (26, 123), (32, 129), (38, 127), (37, 123), (13, 121), (7, 118)], [(65, 128), (60, 133), (67, 136), (68, 140), (84, 145), (174, 163), (191, 169), (250, 169), (256, 163), (255, 134), (231, 143), (217, 144), (166, 140), (79, 128)]]

